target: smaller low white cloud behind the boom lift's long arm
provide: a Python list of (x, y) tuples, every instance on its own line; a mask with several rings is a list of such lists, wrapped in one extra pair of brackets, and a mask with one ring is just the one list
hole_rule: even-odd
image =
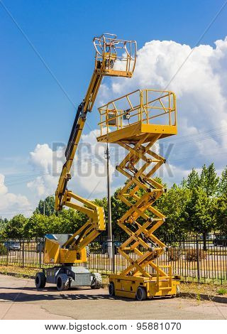
[[(98, 130), (82, 135), (70, 171), (72, 180), (68, 183), (68, 189), (91, 199), (106, 195), (106, 144), (96, 142), (98, 135)], [(56, 153), (48, 144), (38, 144), (30, 153), (30, 163), (34, 169), (40, 171), (40, 175), (28, 182), (27, 186), (37, 198), (45, 198), (55, 193), (62, 163), (65, 162), (64, 152), (65, 147)], [(110, 163), (111, 180), (114, 171), (115, 167)]]

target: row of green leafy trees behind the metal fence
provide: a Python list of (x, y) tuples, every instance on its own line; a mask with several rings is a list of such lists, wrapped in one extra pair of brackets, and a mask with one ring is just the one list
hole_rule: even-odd
[[(155, 178), (155, 181), (167, 188), (162, 179)], [(128, 206), (118, 199), (119, 191), (120, 189), (117, 189), (111, 197), (112, 227), (115, 236), (123, 235), (124, 232), (118, 227), (117, 222), (128, 210)], [(139, 195), (143, 195), (143, 191), (140, 190)], [(106, 197), (96, 199), (94, 203), (104, 208), (107, 224)], [(167, 217), (165, 224), (155, 232), (157, 235), (201, 233), (205, 237), (212, 231), (227, 234), (227, 167), (220, 178), (216, 175), (214, 163), (210, 166), (204, 165), (201, 173), (193, 168), (179, 185), (174, 184), (167, 189), (167, 193), (155, 202), (155, 208)], [(48, 196), (44, 201), (40, 200), (29, 218), (23, 215), (16, 215), (11, 220), (1, 218), (0, 237), (38, 239), (47, 233), (74, 233), (85, 222), (86, 215), (71, 208), (55, 212), (55, 198)]]

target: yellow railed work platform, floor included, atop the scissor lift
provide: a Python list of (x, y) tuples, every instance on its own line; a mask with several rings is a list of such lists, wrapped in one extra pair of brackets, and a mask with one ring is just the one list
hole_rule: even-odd
[[(135, 90), (99, 108), (101, 134), (97, 141), (135, 144), (177, 134), (176, 99), (173, 92)], [(157, 140), (157, 139), (155, 139)]]

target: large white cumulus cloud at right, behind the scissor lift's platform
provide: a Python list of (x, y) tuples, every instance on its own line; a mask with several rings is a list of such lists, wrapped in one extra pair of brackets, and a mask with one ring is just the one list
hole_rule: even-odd
[(150, 41), (138, 50), (133, 78), (113, 78), (110, 85), (102, 85), (99, 102), (137, 89), (172, 90), (177, 95), (179, 136), (167, 139), (165, 144), (182, 144), (172, 150), (171, 163), (176, 160), (184, 171), (207, 161), (223, 168), (226, 162), (221, 153), (227, 150), (226, 78), (227, 38), (216, 41), (214, 47), (195, 48), (175, 41)]

